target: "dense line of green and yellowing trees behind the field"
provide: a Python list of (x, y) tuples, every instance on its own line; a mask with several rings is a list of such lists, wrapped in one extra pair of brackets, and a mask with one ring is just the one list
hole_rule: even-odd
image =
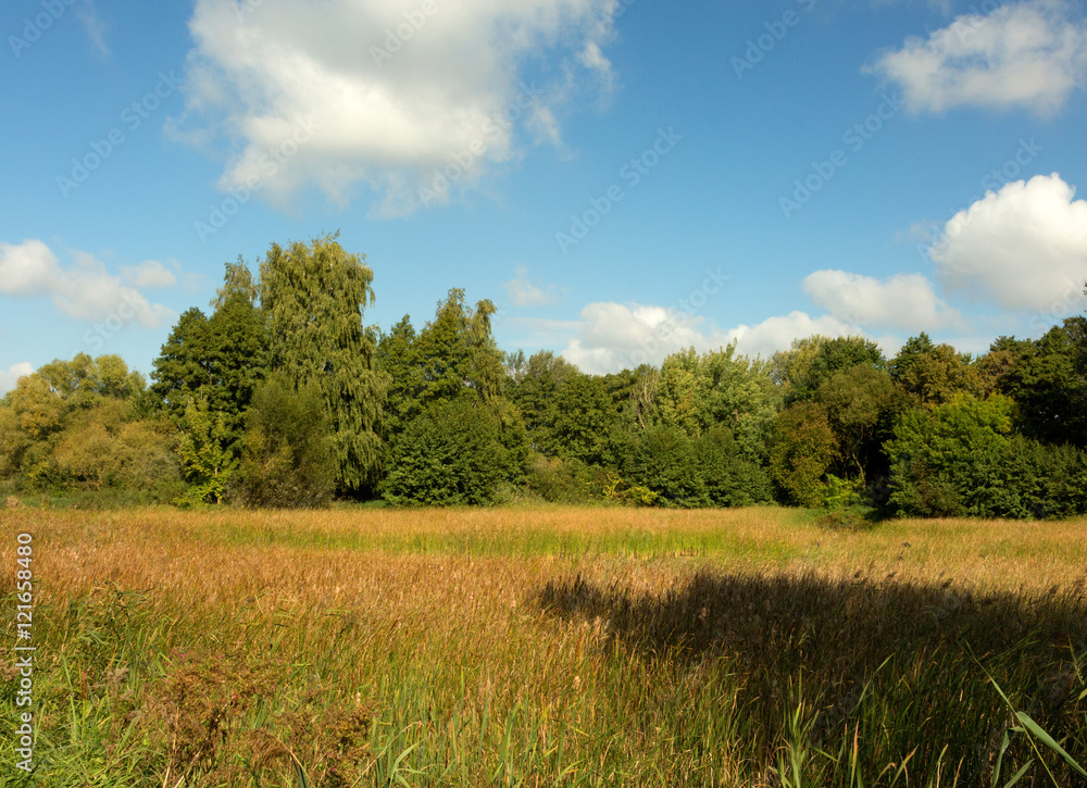
[(225, 266), (148, 383), (80, 353), (0, 400), (0, 484), (180, 505), (516, 498), (778, 502), (884, 515), (1087, 512), (1087, 318), (972, 357), (926, 334), (892, 359), (812, 336), (588, 375), (503, 352), (495, 307), (452, 289), (416, 328), (364, 323), (373, 272), (336, 235)]

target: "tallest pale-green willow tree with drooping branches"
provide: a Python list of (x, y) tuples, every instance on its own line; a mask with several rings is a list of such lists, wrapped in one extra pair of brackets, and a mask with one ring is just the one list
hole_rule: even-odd
[(374, 332), (362, 322), (374, 304), (374, 272), (365, 257), (343, 250), (338, 235), (273, 243), (261, 264), (260, 297), (271, 367), (296, 390), (321, 391), (337, 485), (357, 491), (377, 480), (386, 384), (375, 368)]

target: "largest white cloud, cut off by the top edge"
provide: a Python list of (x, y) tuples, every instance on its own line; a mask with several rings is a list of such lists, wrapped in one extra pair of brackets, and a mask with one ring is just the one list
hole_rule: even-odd
[[(197, 0), (186, 118), (176, 128), (197, 140), (238, 141), (223, 189), (257, 177), (262, 193), (283, 201), (315, 184), (345, 203), (364, 184), (379, 197), (377, 213), (403, 215), (514, 159), (525, 136), (558, 142), (555, 111), (575, 85), (586, 74), (602, 89), (611, 84), (601, 45), (616, 8), (615, 0)], [(528, 61), (559, 80), (522, 83)], [(289, 146), (307, 118), (312, 137)], [(284, 146), (289, 154), (268, 158), (287, 153)], [(447, 183), (436, 183), (447, 167)]]

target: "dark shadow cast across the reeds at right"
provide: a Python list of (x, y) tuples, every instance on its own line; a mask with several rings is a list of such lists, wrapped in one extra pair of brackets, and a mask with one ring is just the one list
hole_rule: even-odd
[[(536, 601), (548, 615), (599, 620), (620, 653), (733, 676), (764, 763), (789, 737), (802, 700), (811, 743), (845, 754), (839, 761), (851, 754), (867, 774), (912, 751), (914, 774), (950, 770), (958, 785), (988, 785), (1014, 724), (990, 677), (1087, 761), (1083, 581), (1033, 597), (976, 596), (894, 574), (833, 580), (702, 572), (649, 593), (577, 576), (549, 583)], [(1059, 779), (1082, 779), (1050, 754)], [(1030, 758), (1029, 742), (1013, 735), (1005, 779), (1010, 763)], [(1042, 774), (1038, 764), (1034, 772)]]

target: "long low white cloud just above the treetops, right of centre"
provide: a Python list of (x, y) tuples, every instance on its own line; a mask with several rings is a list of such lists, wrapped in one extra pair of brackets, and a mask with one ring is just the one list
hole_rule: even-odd
[[(812, 334), (862, 333), (837, 317), (812, 317), (799, 311), (755, 325), (723, 329), (683, 310), (612, 301), (586, 305), (580, 321), (572, 324), (570, 332), (574, 336), (567, 339), (562, 355), (582, 371), (594, 374), (642, 363), (660, 364), (667, 354), (689, 347), (710, 351), (735, 342), (739, 353), (769, 358), (775, 351), (788, 349), (794, 339)], [(889, 340), (880, 345), (894, 347)]]

